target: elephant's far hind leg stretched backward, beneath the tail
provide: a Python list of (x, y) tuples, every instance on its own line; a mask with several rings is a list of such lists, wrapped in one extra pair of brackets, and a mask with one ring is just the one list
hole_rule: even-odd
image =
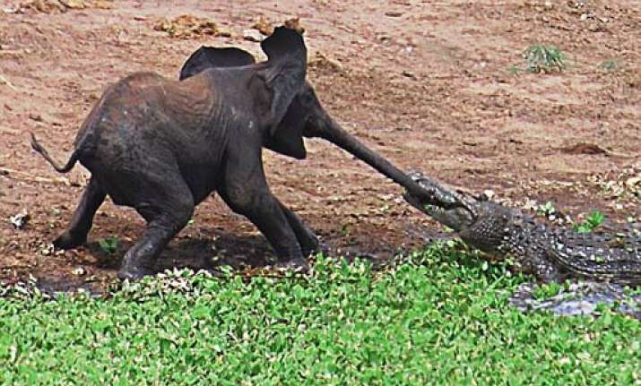
[(93, 223), (93, 216), (105, 201), (107, 193), (102, 189), (96, 177), (91, 176), (89, 184), (82, 193), (78, 207), (74, 211), (69, 227), (54, 240), (57, 248), (70, 249), (87, 241), (87, 235)]

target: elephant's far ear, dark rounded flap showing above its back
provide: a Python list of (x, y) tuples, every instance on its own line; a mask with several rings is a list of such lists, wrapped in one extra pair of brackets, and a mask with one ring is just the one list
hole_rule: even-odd
[(179, 79), (182, 81), (208, 68), (236, 67), (255, 63), (254, 56), (240, 48), (202, 46), (196, 49), (183, 64), (183, 68), (180, 69)]

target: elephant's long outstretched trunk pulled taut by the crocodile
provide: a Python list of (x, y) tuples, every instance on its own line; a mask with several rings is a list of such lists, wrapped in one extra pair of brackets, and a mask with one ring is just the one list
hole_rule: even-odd
[(396, 184), (403, 186), (409, 193), (422, 197), (428, 202), (438, 201), (435, 198), (434, 192), (429, 192), (424, 187), (421, 187), (420, 184), (414, 182), (410, 176), (403, 173), (401, 169), (394, 167), (387, 159), (377, 154), (374, 150), (370, 150), (362, 142), (359, 142), (353, 135), (342, 129), (341, 125), (337, 124), (331, 116), (323, 114), (317, 118), (315, 136), (332, 142), (342, 150), (350, 152), (356, 158), (362, 159), (370, 167), (374, 167)]

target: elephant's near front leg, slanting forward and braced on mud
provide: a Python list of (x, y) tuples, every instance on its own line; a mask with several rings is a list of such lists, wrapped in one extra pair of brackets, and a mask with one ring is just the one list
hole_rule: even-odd
[(219, 188), (221, 198), (231, 210), (258, 227), (272, 244), (279, 266), (307, 270), (299, 240), (265, 181), (260, 147), (256, 149), (258, 152), (253, 154), (242, 149), (230, 151)]

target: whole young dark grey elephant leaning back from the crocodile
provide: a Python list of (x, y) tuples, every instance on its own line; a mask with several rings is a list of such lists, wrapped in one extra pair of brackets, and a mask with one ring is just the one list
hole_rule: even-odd
[(118, 272), (121, 279), (139, 279), (152, 273), (152, 262), (186, 226), (195, 205), (216, 191), (260, 229), (280, 265), (307, 269), (305, 258), (316, 251), (317, 238), (270, 192), (262, 160), (263, 147), (305, 158), (303, 136), (325, 138), (423, 200), (451, 205), (325, 113), (305, 81), (307, 49), (298, 33), (278, 28), (261, 47), (266, 62), (256, 64), (236, 48), (201, 49), (187, 61), (182, 81), (134, 73), (111, 85), (82, 124), (65, 166), (32, 135), (33, 149), (58, 172), (68, 172), (76, 161), (91, 171), (69, 227), (54, 244), (68, 249), (85, 243), (108, 194), (147, 221)]

